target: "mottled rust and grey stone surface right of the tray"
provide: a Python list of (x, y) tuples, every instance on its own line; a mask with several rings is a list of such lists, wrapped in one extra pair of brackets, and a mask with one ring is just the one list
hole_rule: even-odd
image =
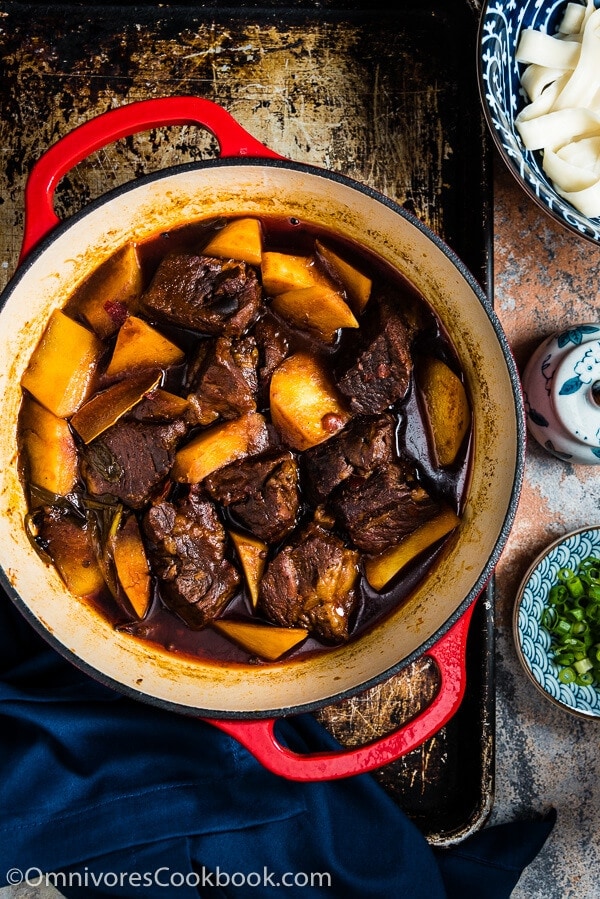
[[(545, 337), (600, 321), (600, 249), (557, 225), (502, 162), (495, 178), (494, 302), (522, 371)], [(570, 465), (531, 439), (525, 482), (497, 569), (496, 801), (491, 822), (553, 806), (557, 823), (514, 899), (600, 897), (600, 720), (546, 702), (512, 639), (521, 578), (556, 537), (600, 523), (600, 468)]]

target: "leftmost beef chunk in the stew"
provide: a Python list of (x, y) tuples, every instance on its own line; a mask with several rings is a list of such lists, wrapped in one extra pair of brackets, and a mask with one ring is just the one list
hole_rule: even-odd
[(82, 451), (88, 492), (110, 494), (141, 509), (168, 476), (187, 430), (181, 420), (156, 424), (119, 419)]

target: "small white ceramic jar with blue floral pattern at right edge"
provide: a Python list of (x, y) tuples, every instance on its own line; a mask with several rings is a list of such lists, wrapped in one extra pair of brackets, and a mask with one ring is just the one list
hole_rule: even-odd
[(550, 453), (600, 465), (600, 323), (545, 340), (522, 377), (527, 427)]

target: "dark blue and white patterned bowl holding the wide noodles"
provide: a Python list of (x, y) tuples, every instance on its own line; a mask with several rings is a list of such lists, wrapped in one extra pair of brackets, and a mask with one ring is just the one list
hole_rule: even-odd
[(521, 88), (522, 66), (515, 61), (523, 28), (554, 34), (566, 0), (488, 0), (482, 13), (479, 64), (486, 111), (507, 162), (526, 189), (571, 228), (600, 242), (600, 219), (588, 219), (554, 191), (539, 154), (525, 150), (514, 120), (527, 101)]

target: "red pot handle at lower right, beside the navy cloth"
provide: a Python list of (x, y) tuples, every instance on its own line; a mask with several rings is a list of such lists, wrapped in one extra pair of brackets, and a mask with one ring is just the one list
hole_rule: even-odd
[(366, 774), (421, 746), (457, 711), (466, 687), (466, 646), (475, 603), (425, 653), (439, 668), (441, 683), (433, 702), (416, 718), (386, 737), (341, 752), (309, 755), (282, 746), (274, 718), (257, 721), (206, 719), (235, 737), (269, 771), (289, 780), (317, 781)]

